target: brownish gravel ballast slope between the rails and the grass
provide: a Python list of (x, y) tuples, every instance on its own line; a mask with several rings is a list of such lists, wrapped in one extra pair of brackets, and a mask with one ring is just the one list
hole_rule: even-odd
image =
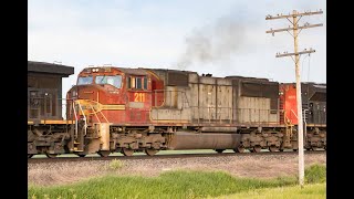
[[(305, 166), (325, 165), (326, 155), (305, 154)], [(222, 170), (237, 177), (273, 178), (298, 174), (298, 155), (222, 156), (166, 159), (125, 159), (121, 168), (112, 160), (28, 164), (29, 185), (53, 186), (76, 182), (97, 176), (155, 177), (169, 170)]]

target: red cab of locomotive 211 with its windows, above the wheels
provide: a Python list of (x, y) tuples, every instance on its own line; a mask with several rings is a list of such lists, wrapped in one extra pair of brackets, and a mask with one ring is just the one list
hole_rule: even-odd
[(85, 104), (77, 113), (85, 115), (87, 123), (146, 123), (150, 90), (150, 75), (145, 70), (86, 67), (67, 92), (67, 98)]

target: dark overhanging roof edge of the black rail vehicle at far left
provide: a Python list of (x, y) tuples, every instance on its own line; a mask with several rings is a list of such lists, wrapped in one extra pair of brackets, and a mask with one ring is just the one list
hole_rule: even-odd
[(28, 72), (51, 73), (67, 77), (74, 74), (74, 67), (62, 64), (28, 61)]

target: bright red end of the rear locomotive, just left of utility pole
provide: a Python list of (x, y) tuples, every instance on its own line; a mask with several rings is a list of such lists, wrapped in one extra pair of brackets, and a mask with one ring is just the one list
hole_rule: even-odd
[(294, 83), (280, 84), (280, 101), (282, 102), (282, 109), (285, 112), (285, 118), (291, 124), (298, 124), (298, 106), (296, 106), (296, 85)]

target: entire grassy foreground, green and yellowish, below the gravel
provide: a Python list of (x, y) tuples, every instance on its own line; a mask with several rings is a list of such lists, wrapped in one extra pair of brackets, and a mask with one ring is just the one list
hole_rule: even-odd
[[(119, 167), (117, 167), (118, 169)], [(29, 198), (243, 198), (251, 197), (319, 197), (325, 198), (325, 167), (306, 168), (306, 185), (293, 187), (296, 177), (270, 180), (236, 178), (229, 174), (200, 171), (167, 171), (159, 177), (105, 176), (79, 184), (35, 187), (29, 186)], [(292, 186), (292, 187), (291, 187)]]

